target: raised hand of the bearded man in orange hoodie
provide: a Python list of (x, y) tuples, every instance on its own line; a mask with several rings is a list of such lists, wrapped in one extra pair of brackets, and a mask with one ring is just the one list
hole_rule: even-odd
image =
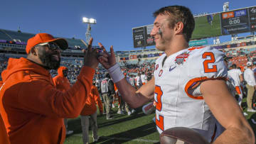
[(82, 52), (84, 53), (84, 65), (96, 70), (97, 65), (99, 65), (99, 61), (97, 60), (98, 50), (92, 50), (92, 41), (93, 39), (90, 38), (87, 50), (82, 50)]

